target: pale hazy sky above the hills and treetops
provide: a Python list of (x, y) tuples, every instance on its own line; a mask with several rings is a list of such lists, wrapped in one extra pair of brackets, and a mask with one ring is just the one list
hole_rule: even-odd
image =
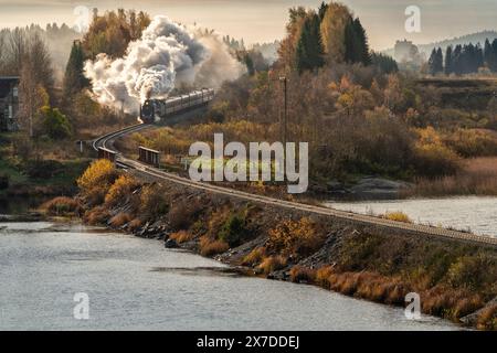
[[(245, 43), (282, 39), (287, 10), (294, 6), (317, 8), (321, 0), (0, 0), (0, 28), (65, 22), (74, 25), (77, 7), (99, 10), (136, 9), (166, 14), (189, 24), (215, 29)], [(374, 50), (392, 47), (396, 40), (416, 44), (452, 39), (483, 30), (497, 30), (497, 0), (341, 0), (366, 28)], [(421, 31), (405, 31), (409, 6), (421, 10)]]

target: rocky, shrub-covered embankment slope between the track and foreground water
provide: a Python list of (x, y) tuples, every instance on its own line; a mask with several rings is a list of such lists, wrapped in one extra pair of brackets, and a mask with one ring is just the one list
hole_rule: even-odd
[[(376, 302), (404, 306), (405, 295), (415, 291), (424, 313), (455, 322), (497, 297), (495, 248), (147, 183), (119, 175), (112, 165), (97, 167), (80, 180), (78, 200), (60, 200), (46, 210), (80, 210), (88, 224), (160, 238), (168, 247), (242, 266), (256, 276)], [(496, 329), (496, 314), (490, 304), (472, 324)]]

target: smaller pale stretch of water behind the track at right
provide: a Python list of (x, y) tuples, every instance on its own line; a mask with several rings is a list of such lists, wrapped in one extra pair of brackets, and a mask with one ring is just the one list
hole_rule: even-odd
[(327, 206), (382, 215), (401, 211), (414, 223), (470, 231), (497, 237), (497, 197), (465, 196), (393, 201), (328, 202)]

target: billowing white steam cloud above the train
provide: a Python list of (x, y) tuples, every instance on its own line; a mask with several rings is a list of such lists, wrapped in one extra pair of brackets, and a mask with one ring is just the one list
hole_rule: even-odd
[(218, 35), (158, 15), (124, 57), (99, 54), (84, 69), (101, 104), (136, 113), (147, 98), (165, 98), (181, 85), (215, 88), (245, 67)]

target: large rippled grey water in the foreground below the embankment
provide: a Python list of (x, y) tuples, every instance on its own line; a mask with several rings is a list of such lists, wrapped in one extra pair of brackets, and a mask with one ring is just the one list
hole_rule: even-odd
[[(458, 329), (77, 223), (0, 223), (0, 330)], [(74, 318), (75, 293), (88, 320)]]

